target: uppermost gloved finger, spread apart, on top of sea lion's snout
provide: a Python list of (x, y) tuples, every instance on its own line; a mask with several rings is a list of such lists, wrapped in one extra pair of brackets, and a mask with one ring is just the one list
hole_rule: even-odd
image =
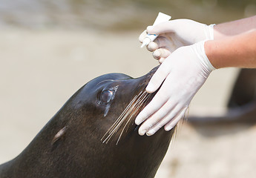
[(147, 90), (148, 93), (153, 93), (160, 88), (160, 85), (163, 83), (164, 79), (168, 76), (171, 71), (171, 66), (168, 63), (164, 63), (160, 65), (157, 71), (152, 76), (151, 80), (148, 82)]

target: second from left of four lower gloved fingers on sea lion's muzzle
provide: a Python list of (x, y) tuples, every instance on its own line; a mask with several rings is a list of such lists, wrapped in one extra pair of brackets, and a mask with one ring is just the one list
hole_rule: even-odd
[(175, 107), (175, 105), (172, 105), (170, 100), (168, 102), (165, 102), (165, 104), (155, 113), (153, 113), (148, 119), (145, 120), (145, 122), (142, 123), (139, 129), (140, 135), (144, 135), (146, 132), (152, 129), (154, 125), (157, 125), (158, 122), (163, 119), (170, 110), (172, 110)]

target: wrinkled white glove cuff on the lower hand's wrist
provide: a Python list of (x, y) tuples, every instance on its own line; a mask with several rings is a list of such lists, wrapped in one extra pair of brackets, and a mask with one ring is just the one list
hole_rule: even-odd
[(200, 64), (203, 66), (204, 69), (204, 74), (206, 74), (207, 76), (211, 73), (212, 70), (215, 70), (215, 67), (213, 67), (213, 65), (211, 65), (211, 62), (209, 61), (208, 57), (206, 56), (206, 51), (205, 51), (205, 47), (204, 44), (207, 40), (205, 41), (201, 41), (201, 42), (197, 42), (194, 45), (194, 52), (197, 54)]

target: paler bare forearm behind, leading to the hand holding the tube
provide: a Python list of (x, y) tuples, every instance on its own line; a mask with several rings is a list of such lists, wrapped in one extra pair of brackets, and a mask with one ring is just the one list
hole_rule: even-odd
[(256, 16), (214, 26), (214, 39), (223, 39), (256, 29)]

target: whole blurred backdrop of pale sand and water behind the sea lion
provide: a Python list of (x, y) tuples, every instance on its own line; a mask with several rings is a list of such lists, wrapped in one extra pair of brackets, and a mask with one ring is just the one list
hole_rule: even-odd
[[(158, 65), (138, 36), (157, 13), (206, 24), (256, 14), (255, 0), (0, 0), (0, 164), (17, 156), (82, 85)], [(237, 69), (216, 70), (191, 115), (226, 112)], [(157, 178), (255, 177), (256, 126), (180, 125)]]

